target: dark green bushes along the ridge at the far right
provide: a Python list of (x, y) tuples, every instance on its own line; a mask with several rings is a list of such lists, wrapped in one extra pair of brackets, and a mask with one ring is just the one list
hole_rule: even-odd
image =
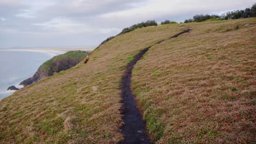
[(195, 15), (193, 16), (193, 19), (185, 20), (184, 23), (188, 22), (201, 22), (206, 21), (209, 19), (215, 19), (215, 20), (229, 20), (229, 19), (241, 19), (241, 18), (247, 18), (247, 17), (256, 17), (256, 3), (253, 4), (251, 8), (246, 8), (245, 10), (235, 10), (235, 11), (229, 11), (226, 14), (222, 15)]

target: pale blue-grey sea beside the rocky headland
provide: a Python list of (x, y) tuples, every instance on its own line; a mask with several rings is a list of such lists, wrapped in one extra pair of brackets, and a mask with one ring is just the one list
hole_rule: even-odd
[(0, 50), (0, 100), (15, 91), (7, 91), (9, 86), (21, 88), (19, 83), (32, 77), (48, 59), (60, 55), (61, 51), (43, 50)]

